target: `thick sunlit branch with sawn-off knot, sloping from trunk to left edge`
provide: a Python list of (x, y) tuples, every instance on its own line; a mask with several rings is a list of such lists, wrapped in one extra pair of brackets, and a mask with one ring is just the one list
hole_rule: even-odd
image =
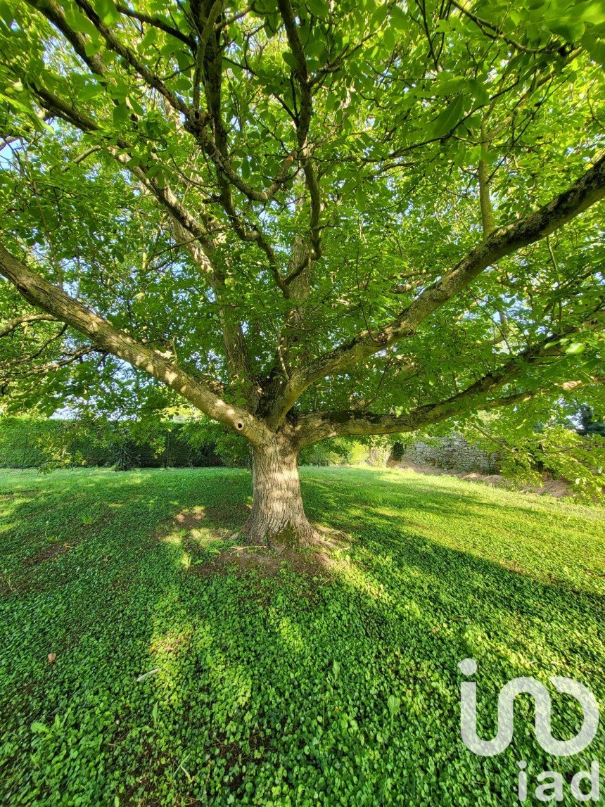
[(107, 320), (78, 303), (65, 291), (44, 280), (0, 245), (0, 274), (15, 285), (27, 302), (52, 314), (57, 320), (89, 337), (94, 345), (145, 370), (214, 420), (243, 434), (251, 442), (263, 437), (266, 429), (249, 412), (215, 395), (206, 384), (147, 345), (129, 337)]

